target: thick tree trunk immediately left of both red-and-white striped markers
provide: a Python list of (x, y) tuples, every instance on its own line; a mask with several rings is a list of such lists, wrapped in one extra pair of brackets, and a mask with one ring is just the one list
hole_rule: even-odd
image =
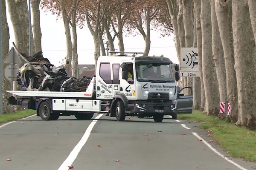
[(201, 1), (201, 26), (202, 26), (202, 68), (206, 98), (207, 115), (218, 115), (219, 92), (214, 61), (212, 57), (212, 28), (210, 2)]

